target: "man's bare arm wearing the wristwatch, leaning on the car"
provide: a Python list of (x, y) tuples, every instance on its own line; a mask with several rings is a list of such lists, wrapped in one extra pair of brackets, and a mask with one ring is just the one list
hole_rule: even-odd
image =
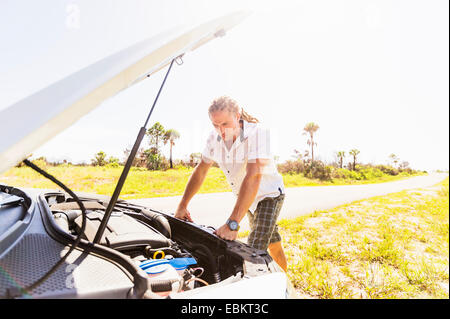
[[(256, 159), (255, 163), (247, 163), (247, 171), (239, 189), (238, 199), (234, 205), (230, 219), (239, 223), (245, 214), (247, 214), (248, 209), (258, 193), (263, 169), (268, 163), (269, 160), (267, 159)], [(237, 231), (231, 231), (226, 224), (216, 230), (216, 234), (228, 240), (235, 240), (237, 238)]]

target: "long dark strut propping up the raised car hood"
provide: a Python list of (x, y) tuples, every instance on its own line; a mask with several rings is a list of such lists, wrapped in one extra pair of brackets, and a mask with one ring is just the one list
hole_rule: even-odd
[(130, 171), (130, 168), (131, 168), (131, 164), (133, 163), (133, 160), (136, 157), (136, 153), (139, 149), (139, 146), (141, 145), (142, 139), (144, 138), (145, 133), (147, 132), (146, 127), (147, 127), (148, 121), (150, 120), (150, 116), (153, 113), (153, 109), (155, 108), (156, 102), (158, 101), (159, 94), (161, 93), (161, 90), (164, 87), (164, 84), (166, 83), (167, 76), (169, 75), (169, 72), (172, 69), (173, 62), (176, 59), (177, 58), (172, 59), (172, 61), (170, 62), (169, 69), (167, 70), (167, 73), (164, 77), (161, 87), (159, 88), (158, 94), (156, 95), (155, 101), (153, 102), (153, 106), (150, 110), (150, 113), (147, 116), (144, 126), (142, 126), (141, 129), (139, 130), (139, 134), (136, 138), (136, 141), (134, 142), (133, 148), (131, 149), (131, 152), (130, 152), (130, 155), (128, 156), (127, 162), (125, 163), (122, 174), (120, 175), (119, 181), (117, 182), (116, 188), (114, 189), (114, 193), (111, 197), (111, 200), (108, 203), (108, 207), (106, 208), (105, 214), (103, 215), (102, 222), (100, 223), (97, 233), (95, 234), (94, 243), (96, 243), (96, 244), (100, 243), (103, 233), (105, 232), (106, 225), (108, 225), (108, 220), (111, 217), (111, 213), (114, 209), (114, 205), (116, 204), (117, 199), (119, 198), (120, 192), (122, 191), (122, 187), (125, 184), (125, 180), (128, 176), (128, 172)]

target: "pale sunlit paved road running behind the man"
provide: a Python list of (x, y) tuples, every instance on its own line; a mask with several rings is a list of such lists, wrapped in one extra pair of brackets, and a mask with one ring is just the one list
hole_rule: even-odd
[[(447, 176), (448, 174), (434, 173), (380, 184), (286, 188), (286, 198), (280, 218), (293, 218), (315, 210), (330, 209), (353, 201), (395, 193), (405, 189), (433, 186)], [(130, 201), (171, 214), (175, 212), (180, 199), (181, 196), (172, 196)], [(228, 218), (235, 202), (236, 197), (231, 192), (197, 194), (189, 203), (188, 209), (194, 222), (218, 228)], [(248, 220), (244, 218), (241, 223), (241, 230), (246, 229), (248, 229)]]

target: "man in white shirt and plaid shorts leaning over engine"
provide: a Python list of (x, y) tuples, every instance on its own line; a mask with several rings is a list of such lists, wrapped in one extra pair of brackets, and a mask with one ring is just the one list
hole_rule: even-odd
[(215, 234), (225, 240), (235, 240), (239, 223), (247, 214), (251, 228), (248, 244), (268, 250), (286, 271), (286, 256), (276, 225), (284, 201), (284, 185), (270, 154), (268, 131), (226, 96), (214, 100), (208, 112), (215, 130), (209, 135), (201, 162), (189, 178), (175, 217), (192, 221), (188, 203), (216, 162), (237, 201), (228, 220)]

